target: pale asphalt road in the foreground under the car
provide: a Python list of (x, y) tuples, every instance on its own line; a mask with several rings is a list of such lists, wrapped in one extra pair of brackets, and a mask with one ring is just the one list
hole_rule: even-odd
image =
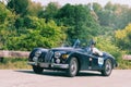
[(63, 72), (32, 70), (0, 70), (0, 87), (131, 87), (131, 70), (114, 70), (109, 77), (98, 72), (81, 72), (67, 77)]

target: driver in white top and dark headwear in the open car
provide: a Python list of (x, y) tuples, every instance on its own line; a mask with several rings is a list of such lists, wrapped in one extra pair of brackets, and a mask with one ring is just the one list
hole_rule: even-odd
[(91, 40), (91, 45), (90, 45), (90, 51), (91, 51), (91, 53), (98, 54), (98, 55), (102, 57), (103, 52), (99, 51), (97, 48), (95, 48), (95, 45), (96, 45), (96, 42), (94, 40)]

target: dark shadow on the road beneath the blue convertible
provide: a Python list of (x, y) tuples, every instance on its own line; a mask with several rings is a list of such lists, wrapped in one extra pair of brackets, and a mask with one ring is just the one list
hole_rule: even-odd
[[(20, 73), (26, 73), (26, 74), (35, 74), (33, 71), (31, 70), (17, 70), (14, 72), (20, 72)], [(60, 77), (68, 77), (66, 72), (61, 72), (61, 71), (44, 71), (44, 73), (41, 74), (37, 74), (37, 75), (46, 75), (46, 76), (60, 76)], [(91, 72), (80, 72), (76, 77), (83, 77), (83, 76), (102, 76), (99, 73), (91, 73)]]

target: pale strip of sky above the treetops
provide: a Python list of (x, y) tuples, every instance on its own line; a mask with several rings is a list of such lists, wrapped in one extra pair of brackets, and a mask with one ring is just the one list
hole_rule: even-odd
[(64, 5), (66, 3), (87, 4), (88, 2), (97, 2), (103, 7), (110, 1), (111, 3), (128, 4), (129, 7), (131, 7), (131, 0), (32, 0), (32, 1), (40, 2), (43, 5), (47, 5), (49, 2), (59, 2), (61, 5)]

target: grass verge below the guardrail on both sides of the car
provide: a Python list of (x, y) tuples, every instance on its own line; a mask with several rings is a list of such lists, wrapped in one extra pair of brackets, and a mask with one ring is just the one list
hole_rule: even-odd
[[(20, 70), (32, 69), (27, 64), (27, 58), (3, 58), (3, 61), (0, 62), (0, 70)], [(131, 70), (131, 61), (119, 60), (117, 70)]]

